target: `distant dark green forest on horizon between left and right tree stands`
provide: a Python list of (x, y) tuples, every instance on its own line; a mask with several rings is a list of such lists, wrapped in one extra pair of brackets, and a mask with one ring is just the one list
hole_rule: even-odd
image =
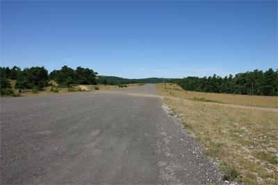
[[(108, 85), (117, 85), (117, 84), (133, 84), (133, 83), (163, 83), (167, 82), (166, 78), (142, 78), (142, 79), (129, 79), (129, 78), (120, 78), (116, 76), (98, 76), (99, 83), (108, 84)], [(172, 79), (171, 79), (172, 80)]]

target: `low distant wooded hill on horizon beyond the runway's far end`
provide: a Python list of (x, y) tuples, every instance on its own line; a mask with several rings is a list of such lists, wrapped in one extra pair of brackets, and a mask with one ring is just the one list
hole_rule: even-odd
[(129, 79), (120, 78), (117, 76), (97, 76), (99, 80), (107, 80), (107, 82), (138, 82), (138, 83), (163, 83), (169, 82), (172, 78), (141, 78), (141, 79)]

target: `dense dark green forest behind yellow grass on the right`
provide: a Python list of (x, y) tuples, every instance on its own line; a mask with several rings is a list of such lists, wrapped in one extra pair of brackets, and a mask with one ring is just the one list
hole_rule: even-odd
[(174, 79), (172, 82), (180, 85), (187, 91), (200, 91), (225, 94), (255, 94), (265, 96), (277, 96), (278, 69), (268, 71), (247, 71), (246, 73), (231, 74), (221, 78), (214, 74), (208, 78), (187, 77)]

